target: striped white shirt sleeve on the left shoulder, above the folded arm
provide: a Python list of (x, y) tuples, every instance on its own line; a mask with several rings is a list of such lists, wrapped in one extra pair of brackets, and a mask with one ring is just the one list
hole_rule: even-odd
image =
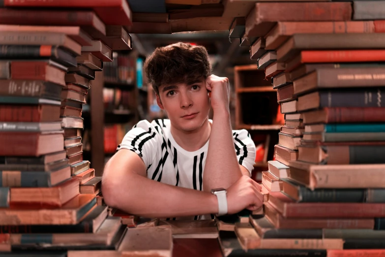
[(156, 157), (159, 142), (162, 142), (159, 136), (158, 130), (152, 124), (146, 120), (140, 121), (125, 134), (117, 151), (128, 149), (136, 153), (148, 167)]

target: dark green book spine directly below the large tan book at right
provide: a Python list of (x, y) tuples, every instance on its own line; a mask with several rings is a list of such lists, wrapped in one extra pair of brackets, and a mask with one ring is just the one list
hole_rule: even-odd
[(364, 202), (365, 190), (359, 189), (316, 189), (311, 191), (307, 188), (300, 187), (300, 202)]

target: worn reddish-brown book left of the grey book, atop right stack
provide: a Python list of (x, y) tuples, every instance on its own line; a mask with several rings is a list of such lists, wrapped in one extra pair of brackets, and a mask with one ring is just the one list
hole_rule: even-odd
[(265, 36), (278, 21), (349, 21), (348, 2), (257, 2), (246, 17), (247, 36)]

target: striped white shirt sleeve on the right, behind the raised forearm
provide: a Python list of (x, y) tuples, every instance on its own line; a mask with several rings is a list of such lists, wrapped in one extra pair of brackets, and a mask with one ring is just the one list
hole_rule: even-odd
[(238, 163), (247, 168), (251, 174), (255, 163), (255, 144), (246, 129), (234, 131), (233, 138)]

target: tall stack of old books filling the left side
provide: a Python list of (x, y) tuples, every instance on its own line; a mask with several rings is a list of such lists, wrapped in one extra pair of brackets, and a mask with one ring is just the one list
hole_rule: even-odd
[(0, 252), (118, 250), (126, 225), (109, 216), (81, 135), (95, 71), (112, 61), (112, 49), (131, 49), (117, 25), (129, 11), (121, 4), (12, 8), (0, 19)]

